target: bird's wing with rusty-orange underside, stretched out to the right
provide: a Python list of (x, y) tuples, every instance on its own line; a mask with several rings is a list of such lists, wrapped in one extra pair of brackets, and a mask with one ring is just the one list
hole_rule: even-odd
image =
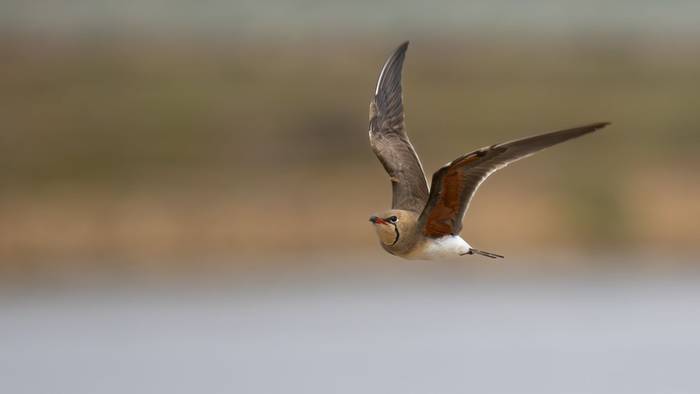
[(433, 174), (430, 198), (418, 219), (423, 235), (457, 235), (469, 202), (481, 183), (497, 170), (535, 152), (607, 126), (586, 126), (540, 134), (478, 149), (447, 163)]

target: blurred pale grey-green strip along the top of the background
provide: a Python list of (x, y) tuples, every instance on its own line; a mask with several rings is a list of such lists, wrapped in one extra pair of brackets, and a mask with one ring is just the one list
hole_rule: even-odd
[[(697, 33), (700, 3), (582, 0), (56, 0), (0, 2), (0, 29), (30, 32), (199, 32), (325, 36), (492, 30)], [(381, 37), (378, 37), (381, 38)], [(418, 38), (418, 37), (415, 37)]]

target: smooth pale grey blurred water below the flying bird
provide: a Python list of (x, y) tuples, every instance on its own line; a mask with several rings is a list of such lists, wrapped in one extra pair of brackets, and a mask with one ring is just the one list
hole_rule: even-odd
[(414, 274), (10, 292), (0, 392), (700, 392), (694, 275)]

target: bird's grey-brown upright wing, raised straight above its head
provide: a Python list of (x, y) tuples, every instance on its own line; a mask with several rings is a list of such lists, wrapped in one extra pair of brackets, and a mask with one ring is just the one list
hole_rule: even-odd
[(401, 67), (408, 41), (386, 61), (369, 106), (369, 142), (393, 191), (391, 207), (420, 213), (428, 201), (423, 167), (404, 129)]

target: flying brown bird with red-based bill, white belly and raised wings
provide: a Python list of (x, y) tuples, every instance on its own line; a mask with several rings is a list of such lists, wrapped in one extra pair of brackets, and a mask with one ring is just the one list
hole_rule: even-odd
[(405, 259), (441, 260), (466, 255), (502, 255), (475, 249), (459, 235), (479, 186), (508, 164), (550, 146), (602, 129), (609, 122), (558, 130), (486, 146), (438, 169), (430, 188), (406, 133), (401, 72), (409, 42), (384, 63), (369, 106), (369, 141), (389, 174), (391, 209), (369, 218), (385, 251)]

